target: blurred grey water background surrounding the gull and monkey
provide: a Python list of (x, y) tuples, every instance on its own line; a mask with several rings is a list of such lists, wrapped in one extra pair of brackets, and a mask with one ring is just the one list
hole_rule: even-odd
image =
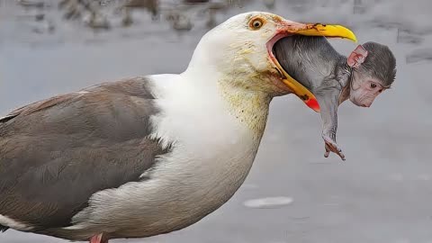
[[(432, 243), (429, 0), (0, 0), (0, 114), (103, 81), (182, 72), (206, 31), (248, 11), (340, 23), (360, 42), (388, 45), (393, 88), (371, 108), (339, 108), (344, 163), (323, 157), (319, 114), (276, 98), (228, 203), (187, 229), (113, 242)], [(345, 55), (356, 47), (330, 41)], [(0, 242), (67, 241), (11, 229)]]

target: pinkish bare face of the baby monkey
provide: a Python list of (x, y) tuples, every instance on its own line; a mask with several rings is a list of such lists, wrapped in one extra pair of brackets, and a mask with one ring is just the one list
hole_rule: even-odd
[(370, 107), (378, 94), (383, 93), (383, 81), (354, 73), (350, 86), (349, 100), (358, 106)]

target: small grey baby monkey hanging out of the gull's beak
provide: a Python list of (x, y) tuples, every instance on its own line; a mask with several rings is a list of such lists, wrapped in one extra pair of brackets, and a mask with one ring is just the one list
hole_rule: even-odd
[(320, 103), (322, 138), (326, 152), (345, 155), (336, 142), (338, 105), (349, 99), (369, 107), (390, 88), (396, 76), (392, 51), (375, 42), (359, 45), (347, 57), (333, 49), (325, 37), (294, 35), (275, 43), (275, 55), (284, 70), (308, 88)]

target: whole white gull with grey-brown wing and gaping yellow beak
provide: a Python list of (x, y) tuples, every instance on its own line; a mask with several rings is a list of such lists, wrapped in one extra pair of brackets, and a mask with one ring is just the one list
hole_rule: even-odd
[(208, 31), (181, 74), (137, 76), (0, 118), (0, 230), (107, 243), (201, 220), (245, 181), (272, 98), (316, 98), (273, 46), (293, 35), (356, 40), (340, 25), (238, 14)]

